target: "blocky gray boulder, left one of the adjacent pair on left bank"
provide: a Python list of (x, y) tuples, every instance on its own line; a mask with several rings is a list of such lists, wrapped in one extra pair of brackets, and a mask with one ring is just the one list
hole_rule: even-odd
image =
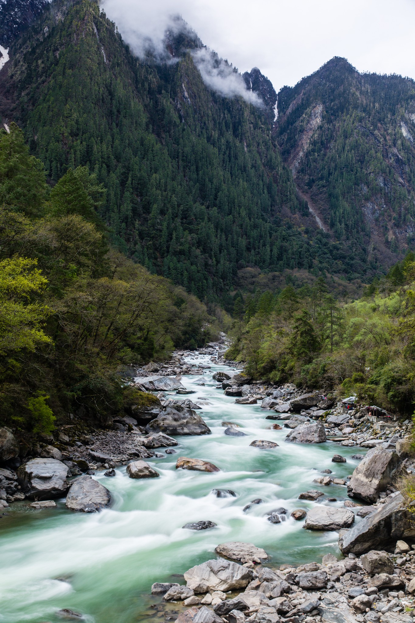
[(68, 490), (68, 467), (56, 459), (32, 459), (17, 469), (22, 492), (30, 500), (50, 500)]

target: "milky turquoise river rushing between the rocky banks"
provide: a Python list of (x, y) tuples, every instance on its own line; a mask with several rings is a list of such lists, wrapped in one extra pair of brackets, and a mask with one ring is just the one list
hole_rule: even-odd
[[(212, 435), (177, 437), (173, 455), (147, 462), (160, 478), (133, 480), (126, 468), (107, 478), (96, 478), (111, 490), (109, 510), (85, 515), (65, 508), (35, 511), (27, 502), (14, 503), (9, 516), (0, 521), (0, 622), (58, 621), (55, 612), (70, 608), (82, 612), (93, 623), (133, 623), (157, 616), (147, 611), (154, 603), (150, 596), (154, 581), (179, 581), (191, 566), (214, 558), (214, 549), (225, 541), (249, 541), (268, 552), (270, 564), (319, 561), (337, 550), (337, 533), (306, 531), (304, 522), (294, 521), (294, 508), (311, 508), (314, 502), (298, 500), (302, 491), (320, 488), (313, 484), (319, 472), (333, 470), (333, 476), (352, 473), (356, 452), (342, 448), (346, 464), (332, 463), (339, 447), (332, 442), (320, 445), (286, 444), (287, 429), (268, 430), (268, 411), (258, 406), (235, 404), (223, 396), (212, 379), (226, 366), (210, 363), (207, 356), (190, 361), (212, 366), (203, 376), (184, 376), (182, 383), (194, 389), (190, 398), (202, 406), (198, 411)], [(205, 386), (198, 383), (204, 381)], [(222, 421), (241, 427), (246, 437), (224, 434)], [(279, 447), (259, 450), (249, 447), (254, 439), (268, 439)], [(159, 450), (157, 450), (158, 452)], [(161, 449), (160, 452), (163, 452)], [(187, 456), (213, 462), (217, 473), (176, 470), (177, 457)], [(231, 489), (236, 497), (217, 498), (213, 488)], [(345, 487), (321, 487), (327, 497), (343, 506)], [(263, 503), (243, 511), (245, 505), (261, 498)], [(266, 513), (283, 506), (287, 520), (271, 524)], [(211, 530), (190, 531), (182, 526), (190, 521), (210, 520)], [(160, 619), (159, 619), (160, 620)]]

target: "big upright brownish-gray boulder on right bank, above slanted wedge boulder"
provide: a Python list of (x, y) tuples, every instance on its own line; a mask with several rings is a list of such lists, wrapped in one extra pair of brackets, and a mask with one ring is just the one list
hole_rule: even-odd
[(369, 450), (350, 478), (347, 495), (369, 503), (376, 502), (379, 493), (385, 491), (391, 483), (398, 464), (396, 452), (379, 447)]

